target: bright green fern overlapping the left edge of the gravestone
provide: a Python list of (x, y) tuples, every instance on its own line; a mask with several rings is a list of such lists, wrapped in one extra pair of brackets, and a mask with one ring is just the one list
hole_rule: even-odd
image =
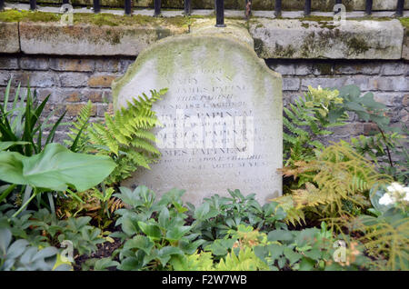
[(159, 125), (152, 105), (165, 95), (167, 89), (151, 90), (151, 97), (143, 94), (127, 102), (114, 115), (105, 114), (104, 124), (93, 124), (88, 130), (91, 145), (99, 154), (110, 155), (118, 164), (105, 180), (117, 183), (142, 166), (149, 169), (160, 155), (155, 147), (155, 135), (150, 132)]

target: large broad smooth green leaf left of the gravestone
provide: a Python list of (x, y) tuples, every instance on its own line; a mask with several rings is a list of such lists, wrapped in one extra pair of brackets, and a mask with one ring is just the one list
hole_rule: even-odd
[(0, 152), (1, 180), (55, 191), (68, 186), (85, 191), (104, 181), (115, 166), (109, 156), (77, 154), (59, 144), (46, 145), (33, 156)]

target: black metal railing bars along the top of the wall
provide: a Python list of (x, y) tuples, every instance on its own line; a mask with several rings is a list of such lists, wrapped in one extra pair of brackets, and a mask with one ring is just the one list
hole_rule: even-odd
[[(70, 0), (62, 0), (63, 4), (69, 4)], [(251, 11), (247, 11), (250, 7), (251, 9), (251, 2), (252, 0), (243, 0), (245, 3), (246, 11), (244, 14), (248, 16)], [(316, 0), (314, 0), (316, 1)], [(30, 10), (36, 9), (36, 0), (29, 0), (30, 3)], [(192, 14), (192, 0), (185, 0), (185, 15)], [(280, 17), (282, 15), (282, 0), (274, 0), (274, 15), (276, 17)], [(342, 0), (334, 0), (334, 4), (342, 4)], [(304, 4), (304, 15), (311, 15), (311, 5), (312, 0), (305, 0)], [(372, 15), (374, 0), (365, 0), (365, 14)], [(4, 9), (5, 7), (5, 0), (0, 0), (0, 10)], [(94, 13), (101, 12), (101, 0), (93, 0), (93, 7)], [(155, 16), (161, 15), (161, 8), (162, 8), (162, 1), (155, 0), (154, 1), (154, 9), (155, 9)], [(216, 26), (217, 27), (224, 27), (224, 0), (214, 0), (214, 10), (216, 14)], [(338, 13), (339, 11), (335, 11), (334, 13)], [(125, 0), (125, 15), (132, 15), (132, 0)], [(396, 16), (403, 16), (404, 15), (404, 0), (396, 0)]]

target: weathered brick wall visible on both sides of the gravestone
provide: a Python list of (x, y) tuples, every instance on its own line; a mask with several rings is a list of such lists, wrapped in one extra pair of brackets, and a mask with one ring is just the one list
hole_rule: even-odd
[[(5, 85), (13, 76), (15, 87), (27, 78), (40, 99), (51, 95), (46, 112), (55, 113), (54, 119), (67, 111), (65, 121), (75, 118), (81, 107), (91, 100), (95, 104), (93, 120), (104, 116), (112, 103), (111, 82), (123, 75), (135, 57), (60, 57), (48, 55), (0, 55), (0, 102)], [(357, 60), (266, 60), (266, 64), (283, 75), (284, 105), (302, 95), (308, 85), (334, 87), (358, 85), (362, 91), (374, 92), (375, 99), (390, 107), (394, 124), (409, 125), (409, 63), (394, 61)], [(155, 87), (153, 87), (155, 88)], [(157, 87), (156, 87), (157, 88)], [(25, 88), (22, 89), (24, 92)], [(13, 101), (11, 97), (10, 101)], [(334, 129), (336, 138), (368, 134), (372, 125), (359, 123), (352, 117), (351, 124)], [(65, 136), (64, 128), (57, 139)]]

